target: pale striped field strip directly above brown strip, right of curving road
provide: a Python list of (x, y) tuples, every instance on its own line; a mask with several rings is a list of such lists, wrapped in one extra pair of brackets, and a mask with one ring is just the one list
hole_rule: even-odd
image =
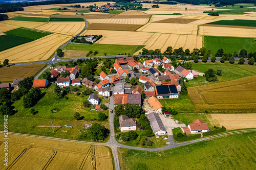
[[(114, 23), (114, 24), (134, 24), (144, 25), (148, 18), (106, 18), (106, 19), (88, 19), (89, 23)], [(129, 27), (129, 26), (126, 26)]]

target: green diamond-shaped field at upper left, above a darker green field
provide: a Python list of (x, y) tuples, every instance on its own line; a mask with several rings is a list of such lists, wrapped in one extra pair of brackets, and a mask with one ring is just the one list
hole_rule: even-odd
[(31, 30), (27, 28), (17, 28), (11, 31), (4, 32), (5, 34), (19, 36), (19, 37), (25, 37), (29, 39), (39, 39), (44, 36), (50, 35), (51, 33), (46, 31), (40, 31), (40, 30)]

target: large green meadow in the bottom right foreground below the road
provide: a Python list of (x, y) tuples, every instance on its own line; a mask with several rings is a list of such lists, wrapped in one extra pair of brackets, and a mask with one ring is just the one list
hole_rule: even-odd
[(254, 169), (256, 132), (232, 134), (165, 151), (118, 149), (121, 169)]

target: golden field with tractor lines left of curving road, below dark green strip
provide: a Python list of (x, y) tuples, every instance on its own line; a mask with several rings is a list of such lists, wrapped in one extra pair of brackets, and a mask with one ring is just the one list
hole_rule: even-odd
[(44, 26), (37, 27), (36, 29), (60, 34), (77, 35), (85, 26), (85, 22), (49, 22)]

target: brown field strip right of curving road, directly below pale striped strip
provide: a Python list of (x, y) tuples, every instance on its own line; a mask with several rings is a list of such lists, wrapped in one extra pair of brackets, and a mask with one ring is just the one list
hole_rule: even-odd
[(142, 25), (124, 25), (113, 23), (90, 23), (88, 30), (116, 30), (116, 31), (135, 31)]

